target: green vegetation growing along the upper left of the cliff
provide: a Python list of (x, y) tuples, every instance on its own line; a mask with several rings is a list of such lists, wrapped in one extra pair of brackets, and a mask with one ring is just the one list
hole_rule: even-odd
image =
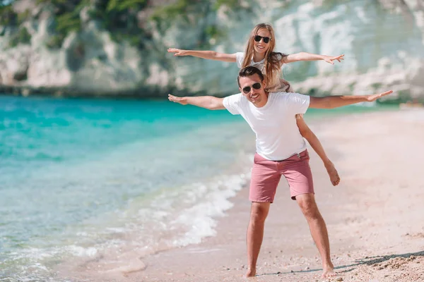
[(160, 31), (166, 30), (175, 20), (193, 25), (201, 22), (203, 32), (196, 47), (207, 47), (210, 39), (223, 37), (225, 32), (213, 20), (208, 21), (204, 17), (218, 13), (222, 6), (227, 6), (229, 11), (242, 8), (240, 0), (175, 0), (164, 6), (155, 6), (154, 2), (147, 0), (33, 1), (41, 8), (37, 15), (28, 10), (16, 13), (11, 3), (0, 4), (0, 25), (14, 27), (16, 30), (11, 39), (11, 46), (30, 42), (30, 35), (22, 24), (26, 20), (37, 20), (41, 11), (48, 11), (52, 16), (52, 23), (49, 25), (50, 32), (53, 33), (46, 46), (52, 49), (61, 47), (66, 36), (71, 32), (81, 32), (90, 21), (110, 32), (114, 41), (126, 41), (139, 49), (146, 49), (147, 42), (152, 39), (151, 23), (155, 23), (155, 27)]

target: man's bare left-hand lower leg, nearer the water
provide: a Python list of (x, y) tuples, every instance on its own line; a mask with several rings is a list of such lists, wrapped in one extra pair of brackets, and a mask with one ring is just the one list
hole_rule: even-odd
[(250, 209), (249, 226), (247, 227), (247, 274), (246, 277), (256, 275), (256, 265), (261, 250), (262, 239), (264, 238), (264, 225), (268, 216), (269, 202), (252, 202)]

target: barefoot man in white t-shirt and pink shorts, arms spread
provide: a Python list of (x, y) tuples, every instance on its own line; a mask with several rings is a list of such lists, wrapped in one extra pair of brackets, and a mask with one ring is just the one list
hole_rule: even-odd
[(306, 143), (299, 133), (295, 114), (305, 114), (308, 107), (332, 109), (358, 102), (372, 102), (392, 91), (363, 96), (309, 97), (286, 92), (265, 92), (264, 75), (258, 68), (243, 68), (237, 78), (240, 92), (225, 98), (212, 96), (175, 97), (179, 104), (192, 104), (206, 109), (227, 109), (240, 114), (256, 133), (257, 153), (254, 156), (249, 200), (252, 201), (247, 228), (246, 276), (256, 274), (257, 258), (264, 237), (264, 223), (276, 193), (281, 175), (290, 186), (290, 196), (298, 202), (309, 224), (312, 238), (322, 258), (323, 278), (335, 276), (330, 258), (326, 224), (314, 199), (314, 186)]

